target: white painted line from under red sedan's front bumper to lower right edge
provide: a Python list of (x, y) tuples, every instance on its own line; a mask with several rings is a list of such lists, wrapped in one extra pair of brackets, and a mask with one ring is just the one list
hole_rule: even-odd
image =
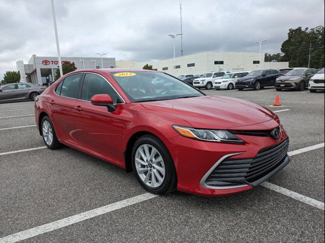
[(280, 186), (277, 186), (277, 185), (274, 185), (272, 183), (269, 183), (269, 182), (263, 182), (261, 184), (262, 186), (265, 186), (273, 191), (276, 191), (276, 192), (279, 192), (281, 194), (284, 194), (286, 196), (289, 196), (291, 198), (294, 198), (298, 201), (302, 201), (303, 203), (305, 204), (309, 204), (317, 209), (321, 209), (321, 210), (324, 210), (324, 203), (322, 203), (321, 201), (318, 201), (318, 200), (315, 200), (313, 198), (310, 198), (308, 196), (304, 196), (304, 195), (301, 195), (297, 192), (294, 192), (294, 191), (290, 191), (288, 189), (285, 189), (283, 187), (280, 187)]

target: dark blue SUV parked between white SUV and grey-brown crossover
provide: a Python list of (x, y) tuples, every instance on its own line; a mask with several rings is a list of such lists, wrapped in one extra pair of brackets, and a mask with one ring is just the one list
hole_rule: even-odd
[(251, 71), (245, 77), (237, 79), (235, 89), (253, 88), (254, 90), (261, 90), (267, 86), (275, 86), (276, 78), (282, 75), (279, 70), (275, 69)]

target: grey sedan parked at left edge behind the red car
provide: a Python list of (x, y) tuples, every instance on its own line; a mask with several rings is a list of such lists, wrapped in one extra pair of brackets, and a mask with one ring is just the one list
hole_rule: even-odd
[(0, 102), (14, 100), (35, 100), (46, 87), (30, 83), (15, 83), (0, 87)]

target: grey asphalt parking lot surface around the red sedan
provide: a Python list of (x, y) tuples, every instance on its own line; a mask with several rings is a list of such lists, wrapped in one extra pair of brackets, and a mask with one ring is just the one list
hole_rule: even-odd
[(268, 108), (295, 155), (266, 184), (278, 189), (150, 196), (121, 168), (43, 148), (33, 102), (0, 104), (0, 242), (324, 242), (324, 92), (204, 92), (263, 106), (280, 95), (283, 106)]

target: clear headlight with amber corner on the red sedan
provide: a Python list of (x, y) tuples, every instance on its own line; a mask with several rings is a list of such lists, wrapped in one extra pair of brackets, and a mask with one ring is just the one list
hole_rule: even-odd
[(179, 135), (187, 138), (210, 142), (245, 143), (240, 138), (224, 130), (194, 129), (189, 127), (180, 127), (176, 125), (173, 125), (173, 128), (176, 130), (176, 132), (179, 133)]

